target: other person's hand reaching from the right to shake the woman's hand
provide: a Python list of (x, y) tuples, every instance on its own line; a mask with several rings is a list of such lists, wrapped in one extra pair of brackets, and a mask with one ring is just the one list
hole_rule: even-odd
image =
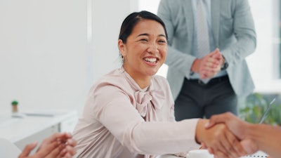
[(211, 128), (215, 124), (224, 123), (228, 126), (228, 129), (241, 140), (241, 145), (246, 150), (247, 154), (253, 154), (258, 151), (256, 143), (254, 140), (247, 138), (246, 131), (249, 129), (250, 124), (242, 121), (239, 117), (236, 117), (230, 112), (224, 114), (216, 114), (209, 119), (209, 123), (206, 124), (206, 129)]

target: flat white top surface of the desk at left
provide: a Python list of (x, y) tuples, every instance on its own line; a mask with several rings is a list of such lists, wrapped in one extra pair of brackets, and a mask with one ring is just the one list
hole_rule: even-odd
[[(25, 114), (14, 115), (11, 112), (0, 112), (0, 137), (15, 143), (43, 131), (61, 121), (77, 116), (77, 110), (26, 110)], [(17, 117), (18, 116), (18, 117)]]

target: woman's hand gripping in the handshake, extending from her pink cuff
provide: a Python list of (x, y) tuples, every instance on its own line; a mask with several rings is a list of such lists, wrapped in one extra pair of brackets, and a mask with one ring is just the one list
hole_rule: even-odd
[[(209, 129), (204, 129), (207, 120), (200, 120), (197, 124), (196, 140), (204, 143), (215, 157), (237, 158), (247, 154), (240, 140), (231, 133), (225, 124), (216, 124)], [(201, 129), (203, 128), (203, 129)]]

